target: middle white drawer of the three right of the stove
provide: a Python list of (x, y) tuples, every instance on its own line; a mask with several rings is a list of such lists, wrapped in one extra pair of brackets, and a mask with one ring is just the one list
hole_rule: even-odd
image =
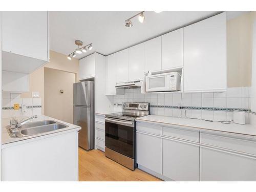
[(163, 135), (188, 141), (199, 142), (199, 131), (187, 131), (174, 126), (163, 126)]

